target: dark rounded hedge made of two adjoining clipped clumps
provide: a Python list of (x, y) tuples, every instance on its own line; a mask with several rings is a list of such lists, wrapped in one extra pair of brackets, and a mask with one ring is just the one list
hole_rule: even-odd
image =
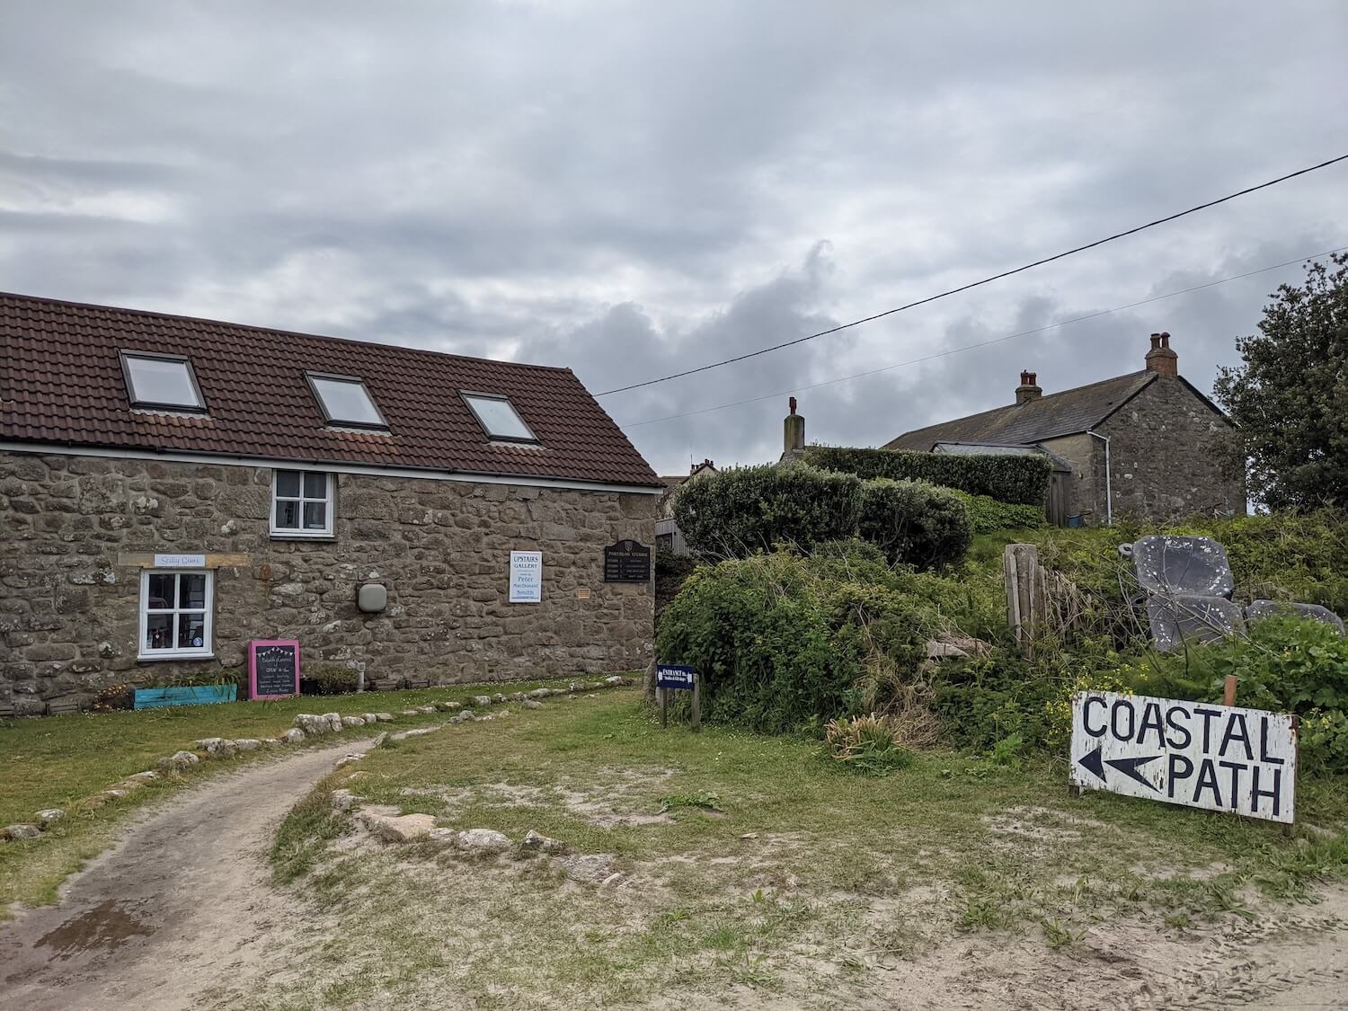
[(948, 489), (861, 481), (803, 464), (731, 468), (690, 481), (674, 499), (674, 519), (687, 546), (710, 558), (861, 537), (892, 563), (930, 568), (961, 559), (972, 538), (968, 510)]

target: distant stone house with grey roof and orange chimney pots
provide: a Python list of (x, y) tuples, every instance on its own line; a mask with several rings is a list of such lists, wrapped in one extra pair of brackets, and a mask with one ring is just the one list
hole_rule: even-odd
[(905, 433), (884, 448), (1045, 453), (1058, 472), (1050, 515), (1082, 523), (1244, 515), (1244, 483), (1223, 473), (1215, 452), (1231, 419), (1180, 375), (1169, 333), (1151, 334), (1143, 364), (1047, 396), (1034, 372), (1022, 372), (1015, 403)]

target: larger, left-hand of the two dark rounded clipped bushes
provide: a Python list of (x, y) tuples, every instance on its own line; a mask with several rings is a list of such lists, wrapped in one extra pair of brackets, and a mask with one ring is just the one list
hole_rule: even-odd
[(856, 532), (861, 483), (799, 464), (740, 466), (689, 481), (674, 519), (687, 546), (741, 558), (774, 545), (810, 547)]

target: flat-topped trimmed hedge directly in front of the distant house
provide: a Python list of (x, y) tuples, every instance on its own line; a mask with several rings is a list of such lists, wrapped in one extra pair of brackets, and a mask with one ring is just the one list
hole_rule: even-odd
[(821, 470), (856, 474), (867, 480), (930, 481), (969, 495), (987, 495), (998, 501), (1043, 506), (1049, 493), (1053, 464), (1042, 456), (957, 456), (953, 453), (913, 453), (892, 449), (847, 449), (807, 446), (805, 462)]

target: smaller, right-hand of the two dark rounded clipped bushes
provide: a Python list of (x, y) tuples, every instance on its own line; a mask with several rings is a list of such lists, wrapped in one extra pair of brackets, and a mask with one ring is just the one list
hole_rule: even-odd
[(969, 511), (954, 492), (883, 477), (861, 484), (857, 535), (891, 562), (919, 569), (960, 561), (973, 539)]

